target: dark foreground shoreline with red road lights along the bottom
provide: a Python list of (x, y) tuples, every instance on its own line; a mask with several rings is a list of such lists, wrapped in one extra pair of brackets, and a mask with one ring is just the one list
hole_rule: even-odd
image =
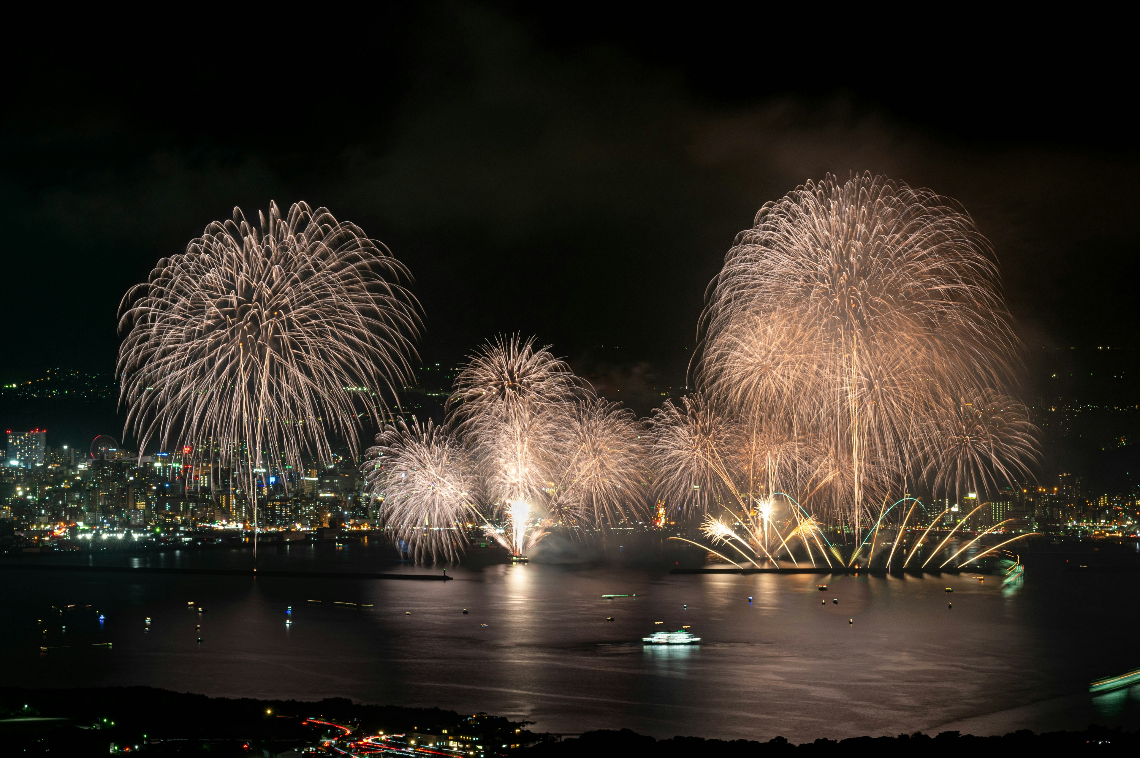
[[(207, 698), (154, 687), (30, 690), (0, 687), (0, 755), (298, 756), (404, 755), (477, 758), (812, 758), (815, 756), (1138, 755), (1140, 737), (1090, 726), (1081, 732), (971, 736), (943, 732), (895, 737), (656, 740), (632, 732), (581, 735), (530, 732), (527, 722), (439, 708)], [(370, 740), (372, 742), (365, 742)], [(377, 744), (376, 740), (382, 742)], [(386, 741), (386, 744), (383, 744)], [(129, 751), (127, 749), (130, 749)], [(986, 751), (986, 752), (983, 752)], [(314, 755), (306, 752), (304, 755)]]

